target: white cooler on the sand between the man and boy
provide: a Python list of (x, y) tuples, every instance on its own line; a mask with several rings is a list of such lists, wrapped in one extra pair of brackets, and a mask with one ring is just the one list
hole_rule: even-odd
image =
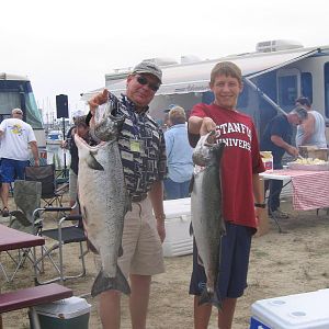
[(190, 236), (191, 198), (166, 200), (166, 239), (163, 256), (174, 257), (193, 252), (193, 237)]

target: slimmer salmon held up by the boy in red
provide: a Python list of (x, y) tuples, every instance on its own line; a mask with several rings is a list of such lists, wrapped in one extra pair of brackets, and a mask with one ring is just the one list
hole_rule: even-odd
[(220, 159), (224, 144), (213, 144), (214, 132), (198, 140), (193, 161), (204, 168), (194, 173), (191, 183), (191, 217), (198, 259), (206, 274), (206, 286), (200, 304), (212, 303), (222, 308), (216, 283), (220, 263), (220, 242), (225, 235), (222, 212)]

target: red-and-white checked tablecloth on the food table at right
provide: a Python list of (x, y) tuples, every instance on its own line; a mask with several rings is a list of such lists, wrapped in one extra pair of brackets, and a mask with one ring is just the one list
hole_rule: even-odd
[(291, 178), (294, 209), (309, 211), (329, 207), (329, 171), (282, 169), (274, 170), (273, 174)]

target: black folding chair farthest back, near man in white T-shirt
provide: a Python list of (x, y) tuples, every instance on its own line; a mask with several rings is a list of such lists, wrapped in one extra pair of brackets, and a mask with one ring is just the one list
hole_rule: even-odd
[(25, 180), (42, 183), (42, 200), (46, 203), (47, 207), (54, 204), (57, 207), (63, 207), (61, 198), (63, 194), (67, 191), (68, 184), (57, 186), (54, 164), (26, 167)]

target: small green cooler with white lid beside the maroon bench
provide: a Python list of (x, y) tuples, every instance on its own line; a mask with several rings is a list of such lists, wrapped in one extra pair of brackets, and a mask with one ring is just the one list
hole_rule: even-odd
[[(35, 307), (41, 329), (88, 329), (91, 305), (84, 298), (70, 297)], [(32, 329), (33, 325), (30, 320)]]

